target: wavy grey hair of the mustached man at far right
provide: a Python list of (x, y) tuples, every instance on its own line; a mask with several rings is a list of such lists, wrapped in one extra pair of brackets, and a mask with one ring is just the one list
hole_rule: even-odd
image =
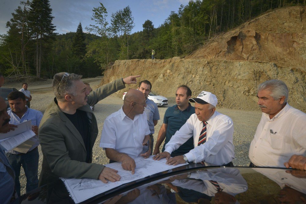
[(285, 82), (281, 80), (272, 79), (265, 81), (258, 86), (258, 91), (261, 90), (271, 91), (271, 97), (273, 97), (274, 100), (278, 100), (282, 96), (285, 96), (284, 102), (287, 102), (289, 90)]

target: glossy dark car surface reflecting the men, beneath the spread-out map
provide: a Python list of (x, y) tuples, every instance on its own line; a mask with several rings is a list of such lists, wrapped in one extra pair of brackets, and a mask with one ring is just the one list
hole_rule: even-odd
[[(305, 177), (304, 171), (299, 173), (298, 170), (284, 168), (204, 167), (192, 163), (123, 184), (84, 203), (121, 203), (122, 199), (131, 203), (212, 200), (217, 203), (225, 198), (240, 203), (279, 203), (285, 198), (306, 198)], [(23, 199), (22, 203), (73, 203), (61, 180), (38, 188), (24, 195)]]

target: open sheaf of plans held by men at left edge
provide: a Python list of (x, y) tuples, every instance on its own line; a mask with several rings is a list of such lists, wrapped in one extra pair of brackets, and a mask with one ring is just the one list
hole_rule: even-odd
[(1, 133), (0, 138), (5, 139), (0, 140), (0, 144), (5, 153), (10, 150), (27, 153), (37, 141), (33, 136), (35, 136), (35, 133), (32, 131), (31, 121), (24, 121), (17, 124), (15, 130), (11, 130), (8, 133)]

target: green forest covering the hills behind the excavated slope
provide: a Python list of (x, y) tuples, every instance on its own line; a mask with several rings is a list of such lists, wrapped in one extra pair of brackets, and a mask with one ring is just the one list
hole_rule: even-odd
[[(21, 1), (0, 35), (0, 72), (5, 76), (52, 78), (69, 72), (95, 77), (115, 60), (184, 57), (207, 40), (259, 15), (306, 0), (196, 0), (172, 11), (158, 28), (144, 19), (143, 30), (131, 33), (134, 17), (129, 6), (109, 14), (92, 9), (92, 24), (58, 35), (49, 0)], [(106, 17), (110, 15), (110, 22)]]

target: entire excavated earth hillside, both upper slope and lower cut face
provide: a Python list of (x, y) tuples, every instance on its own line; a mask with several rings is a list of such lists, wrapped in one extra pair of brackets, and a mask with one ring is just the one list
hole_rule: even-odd
[(151, 81), (152, 90), (166, 97), (174, 97), (177, 87), (186, 84), (193, 96), (202, 90), (214, 93), (219, 107), (258, 109), (259, 83), (279, 79), (289, 88), (289, 104), (306, 112), (305, 10), (296, 6), (264, 14), (185, 59), (118, 60), (101, 85), (140, 74), (140, 80)]

